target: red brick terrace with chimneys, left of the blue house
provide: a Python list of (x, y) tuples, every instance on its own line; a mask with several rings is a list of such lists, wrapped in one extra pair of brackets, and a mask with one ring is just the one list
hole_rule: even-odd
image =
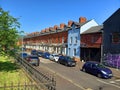
[(41, 32), (28, 34), (24, 37), (24, 46), (27, 49), (37, 49), (66, 55), (69, 28), (64, 23), (61, 23), (60, 27), (55, 25), (54, 27), (41, 30)]

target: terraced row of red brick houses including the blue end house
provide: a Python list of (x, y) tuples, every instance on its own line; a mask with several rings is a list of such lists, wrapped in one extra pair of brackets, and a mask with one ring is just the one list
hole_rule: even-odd
[(41, 32), (33, 32), (24, 37), (24, 46), (28, 49), (37, 49), (80, 58), (80, 33), (92, 26), (98, 26), (94, 20), (80, 17), (79, 22), (68, 21)]

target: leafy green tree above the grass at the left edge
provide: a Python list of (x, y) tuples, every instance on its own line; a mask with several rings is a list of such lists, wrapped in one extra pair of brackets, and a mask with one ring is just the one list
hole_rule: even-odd
[(16, 47), (20, 23), (8, 11), (0, 8), (0, 54), (10, 54), (10, 49)]

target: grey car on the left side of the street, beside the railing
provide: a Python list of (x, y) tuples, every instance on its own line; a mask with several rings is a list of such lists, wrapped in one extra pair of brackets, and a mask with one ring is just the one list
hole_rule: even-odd
[(37, 55), (29, 55), (25, 59), (32, 65), (39, 66), (40, 64), (40, 59)]

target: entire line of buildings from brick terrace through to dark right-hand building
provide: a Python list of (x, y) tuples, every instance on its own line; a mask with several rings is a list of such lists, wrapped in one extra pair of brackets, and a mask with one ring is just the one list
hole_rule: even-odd
[(68, 24), (61, 23), (28, 34), (23, 44), (27, 49), (63, 54), (75, 57), (76, 60), (103, 61), (108, 53), (120, 54), (119, 23), (120, 9), (103, 25), (98, 25), (93, 19), (80, 17), (78, 22), (70, 20)]

